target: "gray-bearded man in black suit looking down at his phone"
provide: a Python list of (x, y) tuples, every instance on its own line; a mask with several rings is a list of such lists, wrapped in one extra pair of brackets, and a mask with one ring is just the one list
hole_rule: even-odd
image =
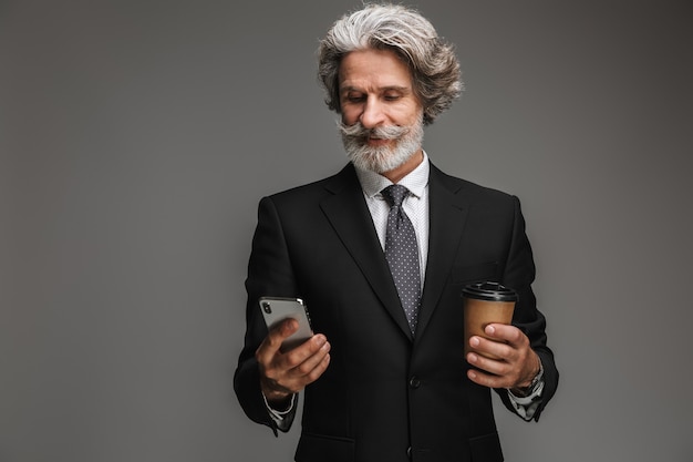
[[(500, 461), (490, 389), (537, 420), (558, 372), (518, 199), (442, 173), (422, 147), (461, 92), (452, 48), (415, 11), (368, 6), (329, 31), (319, 75), (351, 162), (260, 202), (238, 399), (277, 434), (304, 390), (299, 462)], [(464, 355), (462, 288), (484, 280), (519, 295), (513, 326), (469, 340), (498, 359)], [(268, 332), (262, 296), (306, 300), (317, 333), (281, 351), (297, 322)]]

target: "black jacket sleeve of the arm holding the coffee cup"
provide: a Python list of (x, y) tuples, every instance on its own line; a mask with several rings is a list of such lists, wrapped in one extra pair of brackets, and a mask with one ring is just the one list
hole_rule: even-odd
[[(525, 230), (525, 218), (520, 209), (517, 197), (514, 201), (514, 226), (509, 251), (503, 275), (503, 284), (514, 288), (519, 296), (513, 316), (513, 325), (519, 328), (529, 338), (531, 348), (541, 359), (544, 366), (544, 391), (534, 420), (538, 421), (541, 411), (556, 393), (558, 388), (558, 370), (554, 360), (554, 352), (547, 346), (546, 318), (537, 309), (537, 300), (531, 290), (531, 283), (535, 279), (535, 264), (531, 246)], [(511, 412), (515, 408), (509, 401), (506, 390), (497, 390), (503, 403)]]

